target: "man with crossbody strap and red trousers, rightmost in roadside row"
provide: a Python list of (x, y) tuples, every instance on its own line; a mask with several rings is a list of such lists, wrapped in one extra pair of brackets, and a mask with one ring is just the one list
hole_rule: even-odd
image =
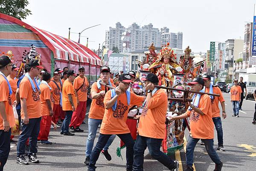
[(82, 124), (86, 113), (86, 102), (87, 102), (87, 88), (89, 87), (89, 82), (84, 76), (84, 67), (79, 67), (79, 76), (75, 78), (73, 87), (77, 94), (78, 105), (76, 110), (73, 112), (72, 119), (70, 122), (70, 132), (84, 132), (79, 126)]

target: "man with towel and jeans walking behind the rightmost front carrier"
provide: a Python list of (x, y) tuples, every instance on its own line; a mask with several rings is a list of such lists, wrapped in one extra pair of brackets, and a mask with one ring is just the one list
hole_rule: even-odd
[(221, 93), (221, 89), (219, 87), (213, 87), (211, 84), (211, 77), (209, 75), (203, 76), (204, 80), (204, 92), (205, 93), (213, 93), (220, 95), (219, 97), (210, 96), (211, 103), (212, 103), (212, 121), (215, 125), (215, 129), (217, 130), (217, 136), (218, 136), (218, 148), (217, 150), (225, 151), (225, 148), (223, 147), (223, 130), (222, 130), (222, 124), (221, 124), (221, 116), (220, 116), (220, 109), (218, 107), (219, 102), (221, 103), (222, 108), (222, 117), (225, 119), (227, 117), (226, 111), (225, 111), (225, 100)]

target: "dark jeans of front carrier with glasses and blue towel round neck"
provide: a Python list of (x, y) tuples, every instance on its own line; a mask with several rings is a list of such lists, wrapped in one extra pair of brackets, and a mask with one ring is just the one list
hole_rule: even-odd
[[(96, 161), (99, 159), (99, 154), (110, 138), (110, 134), (102, 134), (99, 133), (99, 139), (95, 147), (93, 148), (93, 152), (90, 157), (90, 163), (88, 165), (88, 171), (95, 171), (95, 164)], [(134, 147), (134, 140), (131, 137), (131, 133), (123, 133), (117, 134), (117, 136), (125, 143), (126, 146), (126, 168), (132, 169), (133, 165), (133, 147)]]

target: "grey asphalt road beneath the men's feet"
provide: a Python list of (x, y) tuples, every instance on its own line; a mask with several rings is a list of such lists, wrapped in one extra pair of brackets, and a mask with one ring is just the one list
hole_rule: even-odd
[[(239, 118), (232, 117), (233, 109), (230, 102), (230, 94), (224, 93), (226, 100), (227, 118), (222, 119), (224, 131), (224, 148), (227, 151), (217, 151), (224, 163), (222, 171), (256, 171), (256, 125), (251, 122), (254, 113), (254, 100), (244, 100)], [(87, 119), (86, 119), (87, 120)], [(76, 133), (75, 136), (60, 135), (60, 128), (51, 130), (49, 141), (55, 142), (53, 145), (38, 144), (39, 164), (19, 165), (16, 164), (16, 146), (11, 148), (9, 159), (5, 165), (5, 171), (84, 171), (87, 167), (83, 165), (85, 159), (85, 144), (88, 135), (88, 125), (81, 125), (84, 133)], [(186, 132), (186, 137), (188, 132)], [(216, 133), (215, 133), (216, 137)], [(98, 134), (96, 136), (96, 140)], [(96, 143), (95, 140), (95, 143)], [(215, 149), (217, 149), (217, 139), (215, 138)], [(109, 153), (112, 156), (111, 161), (105, 160), (103, 155), (99, 157), (96, 164), (96, 171), (125, 171), (125, 149), (122, 150), (124, 160), (116, 156), (116, 148), (119, 147), (119, 138), (116, 137)], [(185, 167), (184, 150), (177, 152), (172, 159), (180, 159)], [(211, 161), (204, 146), (199, 143), (195, 148), (194, 164), (196, 171), (213, 171), (215, 164)], [(148, 151), (145, 151), (144, 157), (145, 171), (168, 171), (160, 162), (152, 159)]]

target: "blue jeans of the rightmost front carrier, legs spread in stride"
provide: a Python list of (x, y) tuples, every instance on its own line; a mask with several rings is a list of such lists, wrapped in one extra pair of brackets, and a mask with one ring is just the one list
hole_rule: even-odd
[[(201, 139), (204, 141), (204, 145), (206, 148), (206, 151), (209, 155), (209, 157), (211, 157), (212, 161), (215, 164), (220, 164), (221, 163), (221, 159), (218, 157), (218, 154), (216, 153), (216, 151), (213, 148), (213, 139)], [(194, 150), (195, 150), (195, 145), (196, 143), (199, 141), (199, 139), (197, 138), (192, 138), (191, 136), (189, 136), (187, 145), (186, 145), (186, 165), (189, 167), (192, 167), (194, 159), (193, 159), (193, 154), (194, 154)]]

